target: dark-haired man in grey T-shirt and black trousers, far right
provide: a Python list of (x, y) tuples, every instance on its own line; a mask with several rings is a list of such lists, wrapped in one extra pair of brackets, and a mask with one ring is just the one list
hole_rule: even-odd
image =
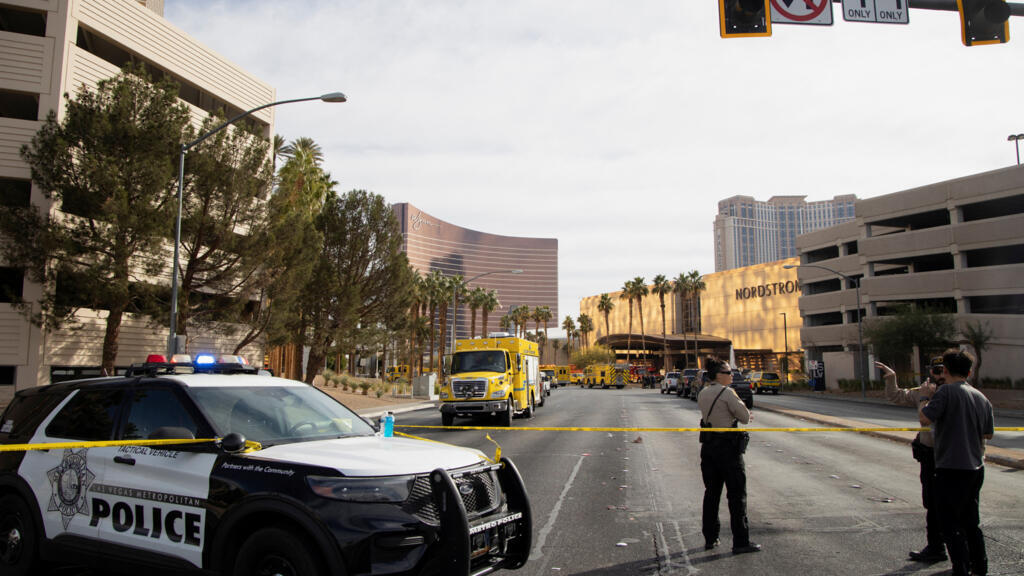
[(931, 399), (922, 403), (921, 423), (935, 433), (935, 489), (942, 536), (954, 576), (988, 574), (979, 500), (985, 482), (985, 441), (992, 438), (992, 405), (967, 383), (974, 365), (969, 353), (942, 355), (944, 384), (922, 387)]

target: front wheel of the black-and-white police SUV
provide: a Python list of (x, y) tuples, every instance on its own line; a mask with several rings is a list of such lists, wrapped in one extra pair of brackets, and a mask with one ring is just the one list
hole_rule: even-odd
[(292, 533), (264, 528), (253, 533), (234, 562), (234, 576), (318, 576), (316, 553)]

